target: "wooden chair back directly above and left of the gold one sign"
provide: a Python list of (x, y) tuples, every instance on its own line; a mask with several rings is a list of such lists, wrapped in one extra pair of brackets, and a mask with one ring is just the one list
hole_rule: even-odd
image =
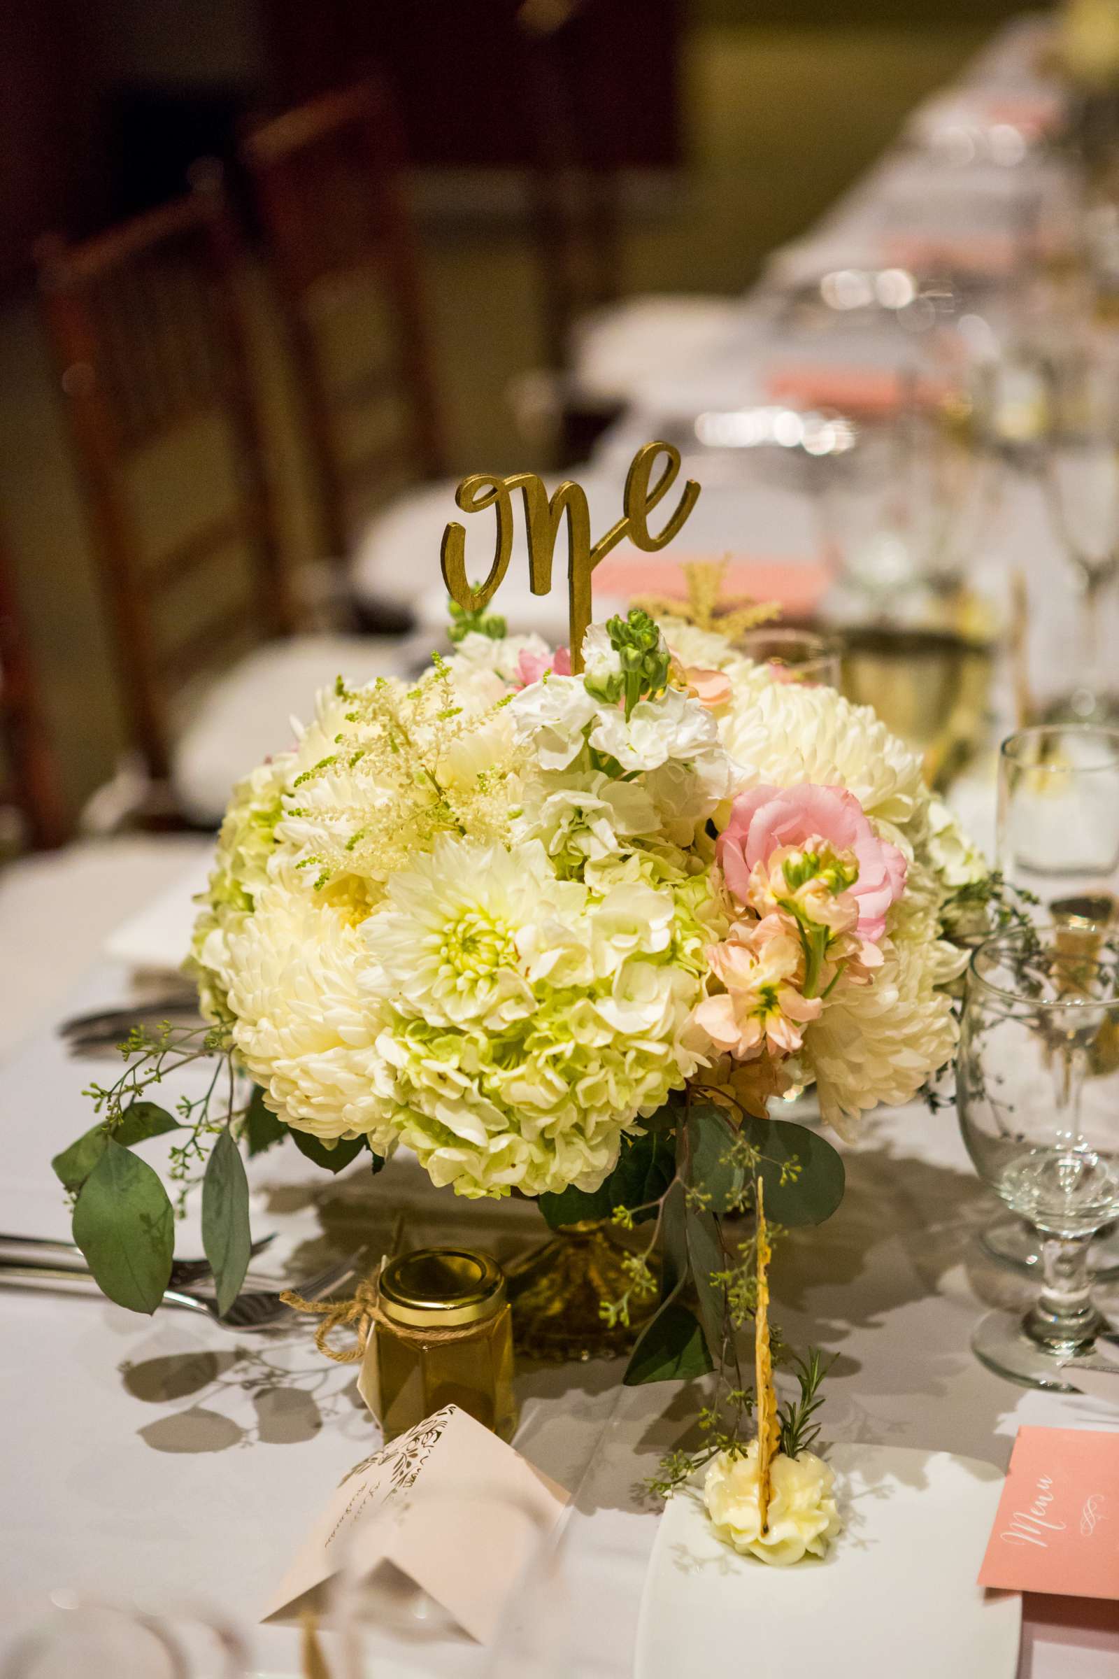
[[(384, 87), (362, 81), (253, 129), (243, 158), (300, 379), (324, 534), (341, 564), (361, 502), (443, 468), (396, 116)], [(371, 292), (383, 343), (347, 341), (372, 348), (372, 359), (339, 368), (330, 317)], [(354, 447), (347, 421), (356, 430), (362, 418), (372, 435)]]

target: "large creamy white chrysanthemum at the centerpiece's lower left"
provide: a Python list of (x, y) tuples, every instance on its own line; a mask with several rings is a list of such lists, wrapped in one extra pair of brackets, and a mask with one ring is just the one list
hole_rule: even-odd
[(273, 865), (253, 913), (230, 939), (233, 1039), (268, 1106), (320, 1138), (394, 1140), (383, 1026), (361, 930), (290, 865)]

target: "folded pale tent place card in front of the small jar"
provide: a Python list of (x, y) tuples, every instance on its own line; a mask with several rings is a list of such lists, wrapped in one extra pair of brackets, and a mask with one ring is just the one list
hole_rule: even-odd
[(327, 1582), (391, 1563), (480, 1644), (569, 1494), (458, 1405), (445, 1405), (349, 1471), (262, 1620), (324, 1614)]

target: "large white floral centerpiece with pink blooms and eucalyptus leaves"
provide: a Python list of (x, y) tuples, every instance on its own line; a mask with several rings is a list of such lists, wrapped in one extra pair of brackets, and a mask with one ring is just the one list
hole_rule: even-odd
[[(627, 1378), (710, 1368), (750, 1311), (723, 1217), (758, 1182), (778, 1224), (842, 1195), (837, 1152), (773, 1098), (814, 1085), (847, 1137), (951, 1058), (950, 934), (986, 866), (871, 710), (716, 633), (631, 611), (572, 675), (500, 621), (458, 630), (411, 683), (339, 678), (237, 787), (195, 932), (210, 1026), (133, 1039), (94, 1091), (99, 1125), (55, 1162), (75, 1237), (112, 1298), (154, 1310), (171, 1206), (129, 1148), (174, 1127), (174, 1175), (206, 1162), (228, 1301), (238, 1143), (290, 1137), (330, 1170), (403, 1145), (460, 1195), (648, 1224), (604, 1305), (626, 1321), (661, 1291)], [(203, 1053), (230, 1100), (218, 1081), (156, 1108), (153, 1078)]]

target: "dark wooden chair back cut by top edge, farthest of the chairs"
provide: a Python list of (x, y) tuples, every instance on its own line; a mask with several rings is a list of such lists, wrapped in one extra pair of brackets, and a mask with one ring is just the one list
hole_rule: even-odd
[(601, 0), (522, 0), (528, 208), (537, 247), (544, 349), (564, 371), (579, 316), (619, 296), (621, 217), (616, 101), (601, 84)]

